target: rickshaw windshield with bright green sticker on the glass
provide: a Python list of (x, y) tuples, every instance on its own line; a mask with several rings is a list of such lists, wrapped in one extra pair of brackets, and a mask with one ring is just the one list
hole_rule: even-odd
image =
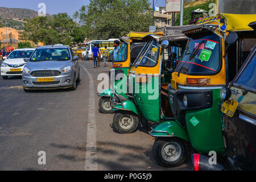
[(189, 39), (176, 72), (184, 74), (209, 74), (220, 67), (220, 38), (216, 34)]

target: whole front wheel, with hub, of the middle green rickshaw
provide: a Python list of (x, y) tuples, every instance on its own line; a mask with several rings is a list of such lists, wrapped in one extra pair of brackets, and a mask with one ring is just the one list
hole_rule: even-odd
[(114, 129), (121, 134), (133, 133), (137, 130), (139, 125), (139, 118), (137, 115), (127, 112), (118, 111), (113, 118)]

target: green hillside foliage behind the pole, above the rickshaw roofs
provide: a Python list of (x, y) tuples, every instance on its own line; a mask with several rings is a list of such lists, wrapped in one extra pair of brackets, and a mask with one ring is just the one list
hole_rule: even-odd
[[(209, 7), (210, 3), (216, 3), (216, 1), (215, 0), (209, 0), (208, 2), (201, 3), (199, 5), (185, 7), (184, 8), (184, 14), (183, 14), (183, 24), (184, 25), (189, 24), (189, 20), (191, 20), (191, 12), (195, 11), (196, 9), (202, 9), (202, 10), (207, 11), (207, 13), (208, 13), (209, 10), (211, 9)], [(177, 17), (175, 19), (175, 25), (176, 26), (180, 25), (180, 15), (177, 15)]]

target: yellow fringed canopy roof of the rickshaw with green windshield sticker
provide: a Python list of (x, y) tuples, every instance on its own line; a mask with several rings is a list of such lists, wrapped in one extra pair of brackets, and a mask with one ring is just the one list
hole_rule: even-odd
[(220, 31), (245, 31), (253, 30), (248, 24), (256, 20), (256, 14), (217, 14), (197, 21), (197, 25), (211, 23), (219, 24)]

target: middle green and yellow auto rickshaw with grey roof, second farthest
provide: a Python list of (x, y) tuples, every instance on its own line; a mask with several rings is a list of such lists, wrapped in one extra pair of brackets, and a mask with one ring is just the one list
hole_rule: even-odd
[[(181, 32), (184, 27), (188, 26), (162, 28), (143, 38), (147, 41), (144, 51), (129, 72), (129, 98), (113, 94), (113, 110), (117, 110), (113, 126), (119, 133), (133, 133), (139, 121), (146, 126), (148, 122), (160, 123), (173, 117), (167, 86), (175, 61), (179, 60), (174, 55), (181, 53), (188, 40)], [(169, 43), (173, 47), (166, 49)]]

